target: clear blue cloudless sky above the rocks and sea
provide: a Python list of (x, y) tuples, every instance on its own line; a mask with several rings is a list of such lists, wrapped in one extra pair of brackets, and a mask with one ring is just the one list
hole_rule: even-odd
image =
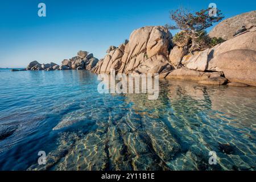
[[(46, 3), (46, 17), (38, 16), (40, 2)], [(100, 59), (133, 30), (171, 23), (170, 10), (183, 6), (197, 11), (211, 2), (225, 18), (256, 9), (254, 0), (1, 0), (0, 67), (26, 67), (32, 60), (60, 64), (79, 50)]]

